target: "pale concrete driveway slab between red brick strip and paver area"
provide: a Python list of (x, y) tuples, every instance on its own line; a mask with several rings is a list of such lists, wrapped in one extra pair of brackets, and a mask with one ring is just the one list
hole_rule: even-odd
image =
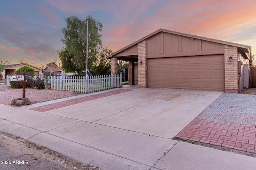
[(222, 93), (146, 88), (46, 112), (171, 139)]

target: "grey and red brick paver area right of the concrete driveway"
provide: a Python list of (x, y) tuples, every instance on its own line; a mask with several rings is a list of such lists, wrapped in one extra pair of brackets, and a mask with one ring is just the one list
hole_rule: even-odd
[(256, 153), (256, 96), (224, 93), (176, 137)]

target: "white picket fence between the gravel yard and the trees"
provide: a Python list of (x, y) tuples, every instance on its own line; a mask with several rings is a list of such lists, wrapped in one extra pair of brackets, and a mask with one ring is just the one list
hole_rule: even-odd
[[(46, 89), (67, 90), (79, 93), (92, 93), (122, 86), (122, 72), (120, 75), (101, 75), (101, 76), (30, 76), (26, 79), (44, 82)], [(32, 85), (33, 86), (33, 85)]]

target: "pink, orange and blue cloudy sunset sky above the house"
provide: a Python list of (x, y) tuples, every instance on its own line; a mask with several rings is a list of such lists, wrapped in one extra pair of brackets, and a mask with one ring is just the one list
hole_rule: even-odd
[(100, 21), (112, 51), (163, 28), (250, 45), (256, 54), (255, 7), (255, 0), (0, 0), (0, 59), (46, 64), (74, 15)]

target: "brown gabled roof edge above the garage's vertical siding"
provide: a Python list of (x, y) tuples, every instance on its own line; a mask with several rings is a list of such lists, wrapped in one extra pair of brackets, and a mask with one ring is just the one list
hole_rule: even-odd
[(167, 30), (167, 29), (158, 29), (156, 31), (154, 31), (153, 33), (149, 34), (149, 35), (146, 35), (145, 37), (135, 41), (134, 43), (131, 43), (130, 45), (127, 45), (126, 47), (112, 53), (112, 55), (108, 56), (107, 58), (110, 59), (112, 58), (112, 56), (120, 53), (121, 51), (124, 51), (126, 49), (128, 49), (129, 47), (132, 47), (133, 45), (157, 34), (157, 33), (160, 33), (160, 32), (166, 32), (166, 33), (172, 33), (172, 34), (176, 34), (176, 35), (181, 35), (181, 36), (186, 36), (186, 37), (191, 37), (191, 38), (195, 38), (195, 39), (202, 39), (202, 40), (205, 40), (205, 41), (212, 41), (212, 42), (215, 42), (215, 43), (220, 43), (220, 44), (224, 44), (224, 45), (230, 45), (230, 46), (234, 46), (234, 47), (238, 47), (239, 50), (244, 53), (243, 55), (246, 55), (244, 56), (245, 58), (250, 58), (250, 56), (248, 56), (248, 54), (245, 54), (245, 53), (251, 53), (251, 50), (250, 50), (250, 46), (248, 45), (242, 45), (242, 44), (237, 44), (237, 43), (231, 43), (231, 42), (228, 42), (228, 41), (222, 41), (222, 40), (218, 40), (218, 39), (212, 39), (212, 38), (206, 38), (206, 37), (200, 37), (200, 36), (197, 36), (197, 35), (191, 35), (191, 34), (187, 34), (187, 33), (180, 33), (180, 32), (176, 32), (176, 31), (170, 31), (170, 30)]

